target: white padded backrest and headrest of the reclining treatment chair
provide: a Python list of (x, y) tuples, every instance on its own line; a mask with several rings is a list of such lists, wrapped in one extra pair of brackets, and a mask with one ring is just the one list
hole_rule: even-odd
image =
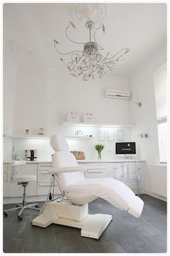
[[(53, 135), (50, 138), (50, 145), (55, 153), (52, 157), (53, 167), (63, 168), (78, 166), (75, 156), (70, 153), (68, 143), (61, 135)], [(56, 174), (59, 187), (64, 190), (69, 184), (81, 181), (84, 178), (82, 171)]]

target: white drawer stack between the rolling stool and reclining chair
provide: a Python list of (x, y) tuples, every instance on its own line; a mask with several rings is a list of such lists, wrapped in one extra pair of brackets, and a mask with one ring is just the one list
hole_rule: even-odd
[[(38, 163), (37, 167), (37, 195), (48, 195), (50, 184), (52, 180), (52, 175), (49, 173), (50, 168), (52, 168), (52, 163)], [(53, 189), (53, 188), (52, 188)], [(58, 184), (55, 180), (55, 195), (61, 194)]]

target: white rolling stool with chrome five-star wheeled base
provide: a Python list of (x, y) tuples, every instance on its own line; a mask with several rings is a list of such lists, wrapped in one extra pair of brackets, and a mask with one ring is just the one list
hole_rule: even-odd
[[(20, 164), (24, 164), (23, 162)], [(19, 163), (17, 163), (16, 165), (19, 165)], [(15, 166), (14, 163), (12, 166)], [(13, 182), (17, 182), (18, 185), (22, 185), (22, 187), (24, 188), (24, 193), (23, 193), (23, 199), (22, 199), (22, 204), (17, 204), (16, 208), (12, 208), (9, 210), (4, 210), (4, 216), (8, 216), (8, 212), (12, 211), (12, 210), (19, 210), (19, 213), (17, 215), (17, 218), (19, 221), (22, 220), (22, 212), (24, 209), (32, 209), (32, 210), (40, 210), (39, 206), (37, 203), (34, 203), (32, 205), (26, 205), (26, 187), (29, 184), (29, 182), (35, 181), (37, 180), (37, 176), (35, 175), (15, 175), (13, 178)]]

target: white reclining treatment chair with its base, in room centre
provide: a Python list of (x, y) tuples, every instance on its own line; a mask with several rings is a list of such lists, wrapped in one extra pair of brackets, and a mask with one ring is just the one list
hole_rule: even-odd
[(68, 201), (47, 202), (32, 225), (45, 228), (51, 223), (73, 226), (81, 229), (81, 236), (99, 239), (112, 216), (107, 214), (88, 214), (88, 202), (102, 197), (120, 210), (126, 210), (139, 218), (143, 210), (143, 200), (122, 182), (112, 179), (85, 179), (84, 168), (68, 150), (68, 143), (61, 135), (53, 135), (50, 144), (55, 150), (53, 168), (61, 192)]

